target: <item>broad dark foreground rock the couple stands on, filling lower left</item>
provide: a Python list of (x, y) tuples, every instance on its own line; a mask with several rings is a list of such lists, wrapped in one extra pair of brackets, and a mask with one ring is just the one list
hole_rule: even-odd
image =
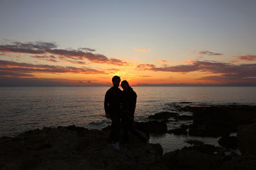
[(1, 169), (150, 169), (158, 166), (159, 144), (141, 143), (129, 134), (131, 145), (116, 151), (107, 147), (108, 130), (83, 127), (36, 129), (0, 138)]

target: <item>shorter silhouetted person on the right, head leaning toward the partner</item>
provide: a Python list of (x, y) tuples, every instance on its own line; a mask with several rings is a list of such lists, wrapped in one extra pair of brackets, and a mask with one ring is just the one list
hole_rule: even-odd
[(133, 119), (134, 119), (134, 111), (136, 108), (136, 100), (137, 94), (132, 90), (129, 86), (129, 83), (124, 80), (121, 83), (121, 87), (123, 90), (122, 95), (122, 124), (124, 126), (124, 142), (125, 145), (128, 143), (128, 131), (132, 132), (132, 134), (138, 136), (138, 138), (143, 141), (143, 143), (147, 143), (147, 139), (141, 136), (140, 132), (133, 129)]

